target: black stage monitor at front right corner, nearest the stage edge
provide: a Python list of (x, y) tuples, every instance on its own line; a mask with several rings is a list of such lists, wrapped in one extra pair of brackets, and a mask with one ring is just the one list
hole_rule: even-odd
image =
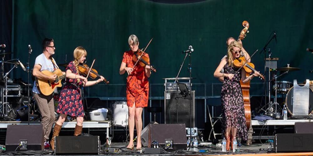
[(312, 152), (313, 134), (276, 134), (275, 152)]

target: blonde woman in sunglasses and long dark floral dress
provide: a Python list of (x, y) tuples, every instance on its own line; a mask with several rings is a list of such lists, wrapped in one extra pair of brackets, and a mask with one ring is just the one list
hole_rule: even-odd
[[(226, 137), (226, 150), (229, 150), (230, 143), (236, 137), (247, 140), (247, 126), (244, 116), (244, 100), (240, 86), (240, 80), (244, 83), (258, 76), (259, 72), (246, 77), (246, 72), (242, 68), (235, 73), (238, 68), (233, 66), (233, 60), (240, 57), (242, 45), (238, 41), (233, 41), (228, 46), (227, 57), (223, 58), (214, 72), (214, 77), (224, 77), (221, 90), (222, 100), (222, 134)], [(224, 69), (224, 73), (220, 71)], [(232, 135), (232, 137), (230, 137)]]

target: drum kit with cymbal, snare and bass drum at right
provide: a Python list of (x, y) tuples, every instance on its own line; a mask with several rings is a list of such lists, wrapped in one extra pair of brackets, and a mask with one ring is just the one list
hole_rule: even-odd
[[(278, 59), (277, 59), (278, 60)], [(276, 61), (277, 61), (276, 60)], [(268, 66), (267, 66), (268, 67)], [(269, 97), (270, 97), (270, 82), (273, 82), (272, 90), (273, 94), (275, 96), (274, 102), (269, 102), (267, 106), (267, 109), (265, 110), (265, 115), (272, 116), (273, 118), (280, 119), (281, 113), (280, 111), (286, 109), (291, 115), (295, 115), (293, 113), (293, 107), (294, 107), (294, 100), (295, 100), (295, 93), (294, 93), (294, 84), (297, 85), (297, 87), (301, 88), (301, 86), (304, 86), (304, 84), (297, 84), (296, 80), (294, 80), (294, 83), (289, 82), (289, 81), (279, 81), (278, 78), (284, 74), (287, 74), (290, 71), (298, 71), (300, 68), (295, 68), (295, 67), (290, 67), (289, 64), (287, 64), (287, 67), (280, 67), (276, 68), (273, 72), (273, 79), (269, 80)], [(276, 71), (280, 71), (280, 75), (276, 75)], [(270, 74), (269, 74), (270, 76)], [(297, 90), (298, 92), (298, 90)], [(277, 103), (277, 94), (281, 94), (282, 98), (285, 100), (283, 102), (283, 108)], [(312, 114), (313, 111), (313, 81), (310, 81), (310, 90), (309, 90), (309, 115)], [(270, 100), (269, 100), (270, 101)], [(311, 106), (312, 105), (312, 106)], [(263, 110), (263, 109), (262, 109)]]

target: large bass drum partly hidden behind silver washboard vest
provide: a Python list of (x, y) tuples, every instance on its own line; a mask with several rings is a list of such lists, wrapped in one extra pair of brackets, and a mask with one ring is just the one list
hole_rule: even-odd
[[(304, 84), (298, 84), (300, 86), (304, 86)], [(286, 106), (287, 106), (287, 110), (288, 112), (292, 114), (292, 106), (293, 106), (293, 88), (291, 87), (290, 90), (288, 91), (287, 95), (286, 95)], [(313, 89), (310, 87), (310, 93), (309, 93), (309, 115), (312, 114), (313, 111)]]

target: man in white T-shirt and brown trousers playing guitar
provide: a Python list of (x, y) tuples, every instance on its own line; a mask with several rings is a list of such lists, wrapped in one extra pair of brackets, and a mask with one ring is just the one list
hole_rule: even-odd
[[(39, 56), (36, 57), (35, 65), (33, 68), (33, 76), (36, 77), (36, 79), (41, 80), (49, 80), (54, 81), (57, 78), (57, 75), (53, 74), (50, 76), (45, 75), (41, 71), (48, 70), (53, 72), (55, 69), (58, 69), (59, 67), (56, 65), (54, 59), (52, 58), (52, 55), (54, 54), (54, 40), (45, 38), (42, 42), (43, 52)], [(36, 81), (34, 82), (33, 86), (33, 97), (38, 105), (38, 108), (41, 113), (41, 124), (43, 125), (44, 130), (44, 145), (45, 148), (49, 148), (49, 134), (52, 129), (52, 125), (55, 120), (54, 115), (54, 100), (53, 95), (43, 95), (39, 88), (36, 85)]]

